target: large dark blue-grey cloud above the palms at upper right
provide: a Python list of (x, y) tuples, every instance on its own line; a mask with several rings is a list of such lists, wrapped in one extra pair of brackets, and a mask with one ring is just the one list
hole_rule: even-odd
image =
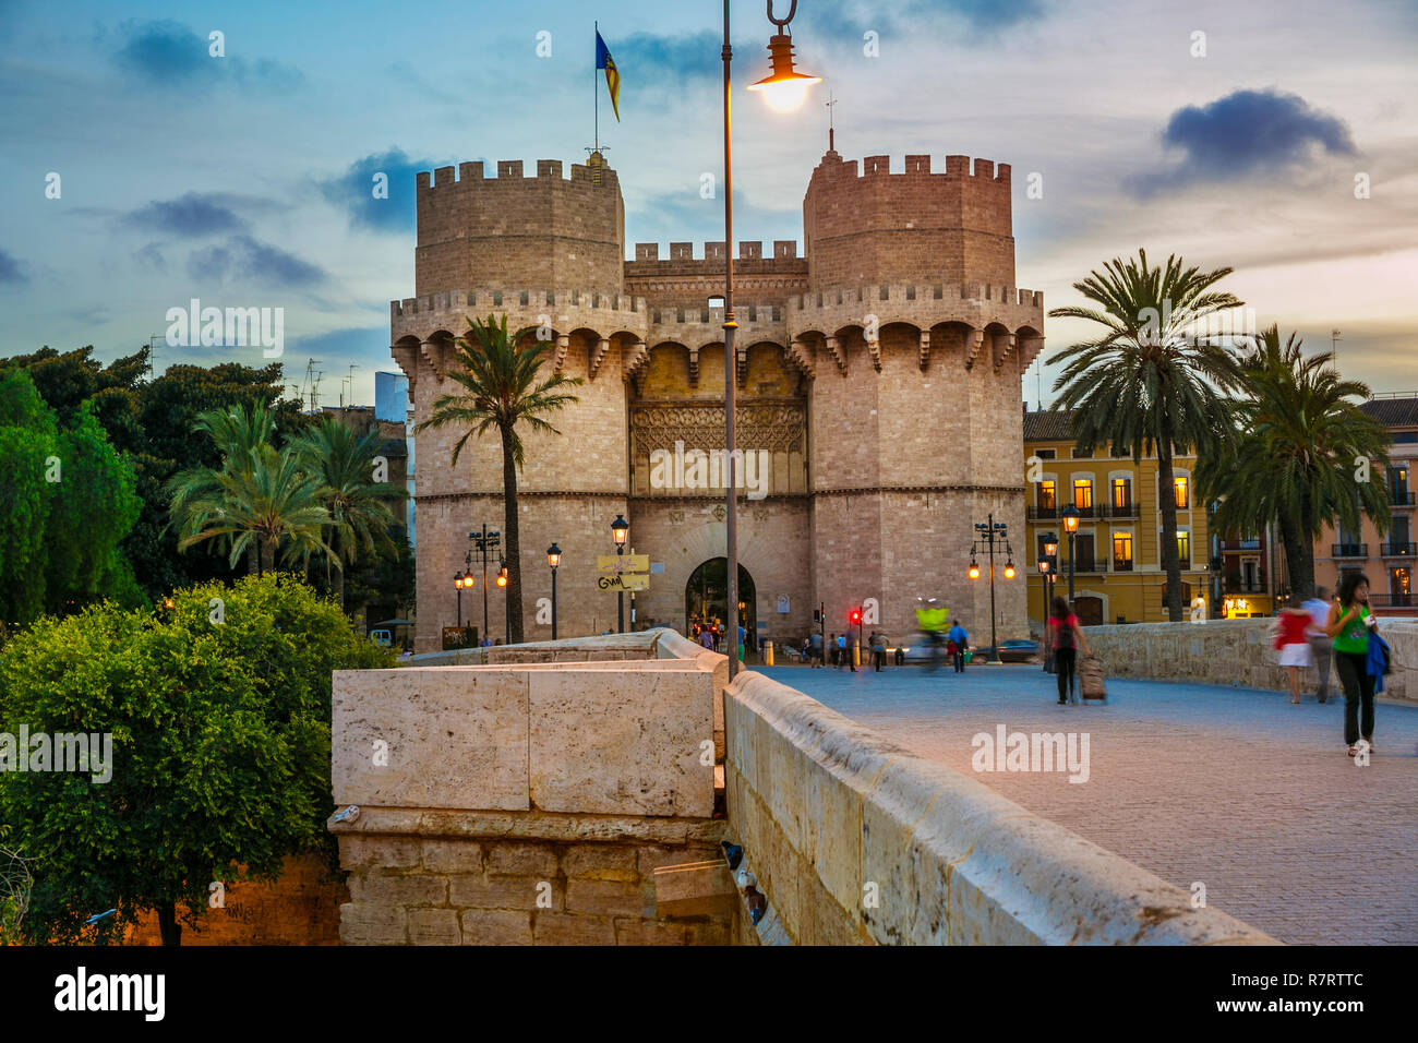
[(1183, 152), (1181, 162), (1127, 179), (1137, 196), (1198, 182), (1236, 182), (1286, 172), (1310, 162), (1316, 149), (1334, 156), (1357, 153), (1343, 119), (1273, 88), (1235, 91), (1210, 105), (1177, 109), (1161, 140), (1168, 149)]

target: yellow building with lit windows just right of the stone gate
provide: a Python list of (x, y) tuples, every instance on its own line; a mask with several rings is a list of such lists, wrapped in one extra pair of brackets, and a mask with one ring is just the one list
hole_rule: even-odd
[[(1157, 457), (1134, 464), (1132, 457), (1109, 457), (1106, 447), (1079, 456), (1071, 421), (1072, 413), (1062, 410), (1024, 414), (1029, 619), (1042, 622), (1045, 617), (1044, 578), (1037, 561), (1044, 555), (1049, 534), (1056, 535), (1059, 543), (1055, 593), (1068, 596), (1069, 543), (1064, 511), (1072, 505), (1079, 512), (1073, 553), (1073, 610), (1079, 622), (1085, 626), (1164, 622), (1167, 578), (1161, 570)], [(1269, 614), (1271, 597), (1265, 589), (1252, 590), (1251, 583), (1241, 583), (1245, 589), (1228, 592), (1219, 572), (1208, 568), (1212, 558), (1219, 568), (1227, 546), (1218, 543), (1208, 553), (1207, 509), (1193, 485), (1195, 464), (1194, 456), (1177, 457), (1173, 488), (1166, 491), (1177, 504), (1183, 603), (1191, 606), (1194, 599), (1202, 599), (1198, 607), (1207, 617)]]

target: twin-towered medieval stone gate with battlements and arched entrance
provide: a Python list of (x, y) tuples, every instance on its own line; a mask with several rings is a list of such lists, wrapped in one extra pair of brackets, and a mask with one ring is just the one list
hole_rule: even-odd
[[(520, 471), (523, 633), (549, 637), (550, 570), (562, 548), (557, 633), (615, 626), (597, 585), (611, 521), (651, 559), (635, 624), (685, 629), (722, 616), (725, 593), (722, 311), (725, 243), (638, 243), (625, 260), (617, 175), (593, 156), (462, 163), (417, 176), (415, 297), (390, 307), (391, 352), (408, 377), (414, 421), (450, 382), (454, 338), (471, 315), (542, 328), (549, 365), (584, 380), (552, 417), (559, 436), (525, 431)], [(740, 600), (750, 634), (801, 641), (813, 610), (842, 630), (903, 637), (917, 597), (943, 599), (987, 633), (990, 590), (967, 576), (973, 525), (993, 512), (1024, 534), (1020, 377), (1044, 346), (1042, 294), (1015, 284), (1010, 167), (947, 156), (886, 156), (861, 167), (822, 156), (797, 243), (739, 243), (735, 307)], [(547, 336), (549, 333), (549, 336)], [(417, 647), (455, 623), (454, 576), (469, 532), (503, 524), (501, 446), (462, 431), (415, 436)], [(479, 576), (481, 565), (474, 566)], [(493, 565), (495, 572), (495, 565)], [(464, 597), (464, 616), (503, 633), (502, 590)], [(716, 600), (718, 597), (718, 600)], [(997, 586), (1000, 636), (1025, 633), (1022, 578)], [(875, 619), (873, 614), (875, 613)], [(752, 639), (750, 639), (752, 640)]]

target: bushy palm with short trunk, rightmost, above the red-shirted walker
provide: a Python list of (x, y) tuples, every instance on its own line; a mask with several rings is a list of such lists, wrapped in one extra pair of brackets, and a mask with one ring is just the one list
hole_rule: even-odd
[[(1388, 431), (1358, 403), (1368, 386), (1341, 380), (1333, 355), (1306, 358), (1295, 333), (1280, 343), (1272, 325), (1242, 359), (1245, 396), (1235, 404), (1241, 437), (1198, 463), (1197, 485), (1221, 500), (1212, 526), (1259, 532), (1273, 524), (1285, 546), (1290, 590), (1314, 593), (1314, 541), (1336, 517), (1350, 529), (1368, 514), (1388, 528), (1388, 498), (1363, 470), (1387, 473)], [(1361, 470), (1363, 468), (1363, 470)]]

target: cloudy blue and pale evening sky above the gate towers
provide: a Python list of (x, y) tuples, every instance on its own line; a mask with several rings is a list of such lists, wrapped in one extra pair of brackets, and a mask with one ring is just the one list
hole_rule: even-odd
[[(1312, 349), (1339, 328), (1346, 375), (1418, 389), (1412, 0), (798, 7), (800, 67), (824, 82), (788, 115), (736, 92), (743, 238), (801, 241), (830, 89), (847, 159), (1011, 163), (1017, 281), (1048, 307), (1078, 304), (1072, 282), (1107, 258), (1180, 253), (1234, 267), (1224, 285), (1262, 326)], [(764, 14), (735, 0), (739, 87), (767, 72)], [(286, 379), (319, 358), (335, 403), (353, 365), (352, 397), (370, 402), (373, 373), (394, 369), (389, 301), (413, 294), (414, 172), (580, 162), (604, 91), (593, 20), (623, 78), (621, 121), (603, 96), (601, 135), (627, 250), (722, 238), (722, 200), (699, 193), (722, 167), (713, 0), (0, 0), (0, 356), (126, 355), (194, 297), (282, 307)], [(376, 173), (389, 199), (373, 197)], [(1086, 332), (1051, 319), (1049, 352)], [(156, 365), (231, 358), (265, 362), (258, 348), (162, 345)], [(1045, 402), (1054, 375), (1044, 366)], [(1032, 370), (1024, 392), (1038, 397)]]

